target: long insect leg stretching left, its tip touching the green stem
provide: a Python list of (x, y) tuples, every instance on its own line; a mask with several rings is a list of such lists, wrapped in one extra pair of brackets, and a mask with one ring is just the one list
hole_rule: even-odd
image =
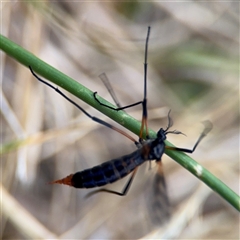
[(33, 76), (40, 82), (46, 84), (48, 87), (54, 89), (57, 93), (59, 93), (62, 97), (64, 97), (66, 100), (68, 100), (70, 103), (72, 103), (75, 107), (77, 107), (80, 111), (82, 111), (87, 117), (91, 118), (93, 121), (102, 124), (108, 128), (111, 128), (119, 133), (121, 133), (122, 135), (124, 135), (125, 137), (129, 138), (131, 141), (133, 141), (137, 146), (138, 146), (138, 142), (129, 134), (125, 133), (124, 131), (122, 131), (121, 129), (118, 129), (114, 126), (112, 126), (111, 124), (97, 118), (94, 117), (92, 115), (90, 115), (87, 111), (85, 111), (80, 105), (78, 105), (76, 102), (74, 102), (73, 100), (71, 100), (69, 97), (67, 97), (63, 92), (61, 92), (58, 88), (54, 87), (53, 85), (51, 85), (50, 83), (42, 80), (40, 77), (37, 76), (37, 74), (33, 71), (33, 69), (29, 66), (29, 69), (31, 71), (31, 73), (33, 74)]

